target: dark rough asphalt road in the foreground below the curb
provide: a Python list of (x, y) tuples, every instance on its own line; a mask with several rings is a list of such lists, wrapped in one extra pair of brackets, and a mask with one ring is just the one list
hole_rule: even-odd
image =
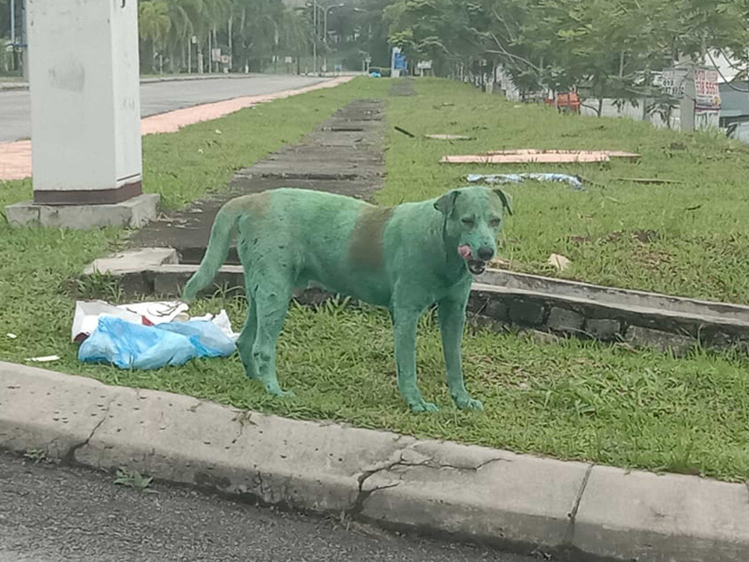
[(0, 452), (0, 562), (537, 562)]

